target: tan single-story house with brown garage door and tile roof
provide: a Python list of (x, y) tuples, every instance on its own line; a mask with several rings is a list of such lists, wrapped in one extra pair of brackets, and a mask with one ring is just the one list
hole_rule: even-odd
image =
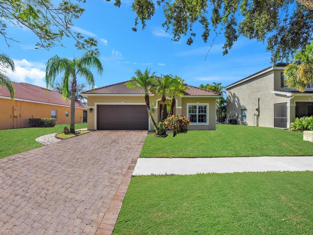
[[(150, 130), (151, 123), (144, 100), (144, 90), (128, 88), (127, 81), (83, 91), (87, 97), (89, 112), (88, 129), (95, 130)], [(183, 97), (176, 97), (174, 114), (190, 118), (188, 130), (215, 130), (216, 128), (216, 98), (221, 94), (196, 86), (187, 87)], [(155, 100), (153, 118), (160, 122), (162, 101), (161, 96), (149, 92), (150, 104)], [(170, 99), (167, 97), (167, 99)], [(165, 108), (164, 117), (167, 117)]]

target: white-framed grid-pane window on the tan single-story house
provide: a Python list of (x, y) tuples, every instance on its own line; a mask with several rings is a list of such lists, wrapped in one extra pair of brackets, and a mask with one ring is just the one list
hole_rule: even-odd
[(208, 104), (187, 104), (187, 115), (191, 125), (208, 125)]

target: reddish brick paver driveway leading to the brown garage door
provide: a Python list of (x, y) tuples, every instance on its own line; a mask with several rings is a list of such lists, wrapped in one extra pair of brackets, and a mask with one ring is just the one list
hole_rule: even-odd
[(110, 234), (146, 131), (95, 131), (0, 160), (0, 230)]

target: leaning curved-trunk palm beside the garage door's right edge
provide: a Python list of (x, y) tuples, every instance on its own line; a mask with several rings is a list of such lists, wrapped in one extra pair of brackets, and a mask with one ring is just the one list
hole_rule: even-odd
[(156, 127), (156, 121), (152, 117), (151, 108), (150, 108), (150, 99), (149, 99), (149, 91), (152, 91), (155, 87), (155, 74), (156, 72), (150, 73), (150, 70), (146, 68), (144, 72), (142, 72), (140, 69), (135, 70), (135, 75), (131, 78), (130, 81), (126, 82), (126, 86), (128, 88), (137, 88), (137, 89), (143, 89), (145, 91), (145, 102), (148, 110), (149, 117), (151, 119), (152, 124), (154, 127)]

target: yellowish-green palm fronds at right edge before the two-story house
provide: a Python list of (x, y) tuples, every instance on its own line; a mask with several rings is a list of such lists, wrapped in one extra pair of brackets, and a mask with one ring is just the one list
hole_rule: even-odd
[(284, 70), (285, 84), (291, 89), (304, 92), (305, 87), (313, 82), (313, 42), (303, 52), (298, 50), (293, 57), (294, 61)]

